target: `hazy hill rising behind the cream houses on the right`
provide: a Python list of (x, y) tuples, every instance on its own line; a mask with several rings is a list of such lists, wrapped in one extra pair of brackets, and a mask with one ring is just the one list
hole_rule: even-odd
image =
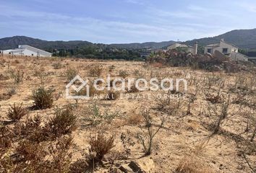
[(184, 43), (187, 45), (194, 45), (195, 42), (198, 42), (200, 45), (209, 45), (212, 43), (218, 43), (221, 40), (221, 38), (223, 38), (228, 43), (232, 43), (233, 45), (238, 46), (239, 48), (256, 48), (256, 29), (232, 30), (230, 32), (226, 32), (223, 35), (218, 35), (216, 37), (205, 37), (195, 40), (189, 40)]

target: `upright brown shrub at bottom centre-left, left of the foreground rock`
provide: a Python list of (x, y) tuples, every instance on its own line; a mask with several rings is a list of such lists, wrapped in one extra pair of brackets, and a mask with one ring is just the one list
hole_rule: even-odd
[(114, 136), (110, 138), (98, 133), (94, 137), (90, 137), (90, 153), (95, 153), (93, 158), (95, 161), (101, 161), (103, 157), (108, 154), (111, 148), (114, 147)]

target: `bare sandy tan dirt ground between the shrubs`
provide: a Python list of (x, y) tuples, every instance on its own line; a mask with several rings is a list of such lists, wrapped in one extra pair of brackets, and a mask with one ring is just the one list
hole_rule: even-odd
[[(91, 76), (90, 69), (96, 66), (101, 66), (103, 79), (106, 79), (107, 74), (111, 74), (111, 79), (120, 77), (121, 71), (127, 73), (126, 79), (184, 78), (187, 79), (188, 91), (184, 92), (182, 87), (179, 92), (164, 92), (161, 89), (135, 91), (129, 93), (129, 97), (124, 95), (127, 92), (121, 91), (119, 97), (113, 100), (94, 98), (76, 102), (74, 99), (66, 99), (68, 69), (77, 69), (82, 79), (92, 80), (97, 76)], [(13, 70), (24, 73), (20, 84), (14, 84), (10, 75)], [(32, 107), (33, 90), (42, 85), (55, 89), (54, 107), (30, 110), (29, 116), (39, 114), (48, 120), (56, 107), (76, 105), (74, 111), (78, 116), (78, 128), (72, 133), (73, 162), (88, 152), (91, 135), (103, 132), (107, 136), (115, 136), (115, 146), (106, 155), (113, 162), (108, 161), (105, 167), (95, 168), (95, 172), (120, 172), (119, 167), (130, 161), (140, 163), (145, 172), (189, 172), (191, 169), (191, 172), (239, 173), (256, 169), (255, 138), (250, 141), (256, 124), (255, 74), (251, 72), (224, 74), (166, 67), (158, 63), (4, 56), (0, 57), (0, 74), (9, 76), (9, 79), (3, 77), (0, 80), (1, 120), (8, 119), (8, 109), (14, 103)], [(9, 98), (4, 96), (8, 92), (12, 92)], [(162, 98), (156, 97), (159, 95)], [(163, 96), (171, 96), (171, 99), (163, 99)], [(218, 132), (213, 133), (214, 125), (223, 111), (223, 103), (227, 102), (227, 115), (221, 119)], [(98, 124), (91, 125), (88, 117), (92, 116), (93, 107), (98, 107), (102, 114), (111, 118), (103, 118)], [(150, 156), (144, 156), (137, 138), (138, 133), (145, 131), (145, 120), (142, 117), (145, 111), (153, 117), (152, 130), (161, 127), (161, 117), (166, 119), (153, 138)], [(122, 135), (130, 138), (131, 143), (127, 144), (130, 153), (125, 159), (118, 156), (125, 153)]]

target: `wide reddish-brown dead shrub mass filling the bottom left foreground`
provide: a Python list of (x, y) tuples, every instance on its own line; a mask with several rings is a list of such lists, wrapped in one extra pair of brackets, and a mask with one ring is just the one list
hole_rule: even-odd
[(14, 156), (10, 158), (12, 167), (5, 168), (7, 172), (35, 172), (54, 173), (69, 172), (71, 154), (69, 148), (72, 138), (60, 138), (56, 143), (50, 143), (48, 147), (31, 141), (20, 141), (15, 149)]

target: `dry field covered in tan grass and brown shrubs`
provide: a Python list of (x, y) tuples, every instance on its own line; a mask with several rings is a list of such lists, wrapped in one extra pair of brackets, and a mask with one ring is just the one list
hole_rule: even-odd
[[(16, 59), (19, 63), (14, 62)], [(0, 172), (119, 172), (119, 167), (130, 161), (147, 169), (149, 157), (155, 167), (153, 172), (220, 172), (221, 164), (223, 172), (251, 172), (249, 165), (255, 168), (256, 92), (249, 71), (224, 74), (172, 68), (157, 62), (152, 66), (131, 61), (5, 56), (0, 56), (0, 66)], [(90, 68), (95, 66), (98, 70), (90, 75)], [(66, 67), (74, 71), (67, 73)], [(11, 70), (17, 77), (11, 77)], [(177, 97), (181, 94), (177, 91), (139, 92), (134, 87), (128, 93), (119, 91), (119, 97), (76, 102), (65, 98), (65, 86), (78, 71), (89, 81), (98, 75), (106, 80), (110, 71), (111, 87), (120, 76), (125, 81), (130, 76), (161, 80), (187, 78), (190, 74), (190, 78), (184, 97)], [(121, 71), (125, 73), (119, 74)], [(90, 96), (111, 95), (89, 85)], [(159, 94), (167, 98), (155, 97)], [(146, 97), (140, 97), (143, 95)], [(223, 105), (227, 99), (229, 107)], [(24, 115), (25, 107), (14, 102), (23, 102), (25, 107), (34, 104), (35, 109)], [(142, 116), (138, 113), (141, 110), (149, 110), (150, 114)], [(161, 117), (168, 117), (164, 126)], [(90, 134), (95, 136), (89, 138)], [(114, 139), (113, 134), (119, 138)], [(207, 149), (200, 154), (188, 152), (205, 139)], [(143, 157), (145, 154), (150, 156)], [(141, 163), (143, 159), (145, 164)]]

